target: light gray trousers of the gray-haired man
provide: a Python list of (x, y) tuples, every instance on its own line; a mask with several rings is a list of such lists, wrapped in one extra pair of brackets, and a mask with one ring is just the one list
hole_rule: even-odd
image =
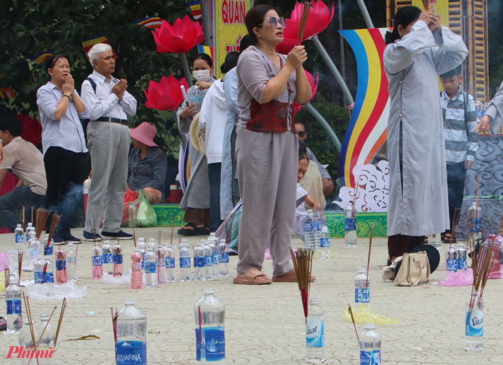
[(86, 211), (87, 232), (93, 232), (95, 222), (98, 232), (102, 215), (103, 231), (121, 229), (130, 144), (127, 126), (106, 121), (89, 122), (88, 149), (93, 173)]

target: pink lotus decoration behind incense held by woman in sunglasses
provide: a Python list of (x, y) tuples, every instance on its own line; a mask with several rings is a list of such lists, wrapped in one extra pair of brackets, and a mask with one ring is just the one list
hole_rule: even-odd
[[(307, 23), (304, 29), (302, 42), (315, 34), (323, 32), (333, 18), (333, 4), (331, 12), (321, 0), (317, 3), (313, 1), (311, 4), (312, 7), (309, 9), (309, 15), (307, 16)], [(276, 47), (277, 52), (286, 55), (292, 50), (293, 46), (299, 45), (297, 27), (300, 27), (298, 19), (301, 16), (302, 5), (296, 3), (295, 9), (292, 11), (292, 16), (290, 19), (286, 19), (286, 29), (283, 31), (283, 42)]]

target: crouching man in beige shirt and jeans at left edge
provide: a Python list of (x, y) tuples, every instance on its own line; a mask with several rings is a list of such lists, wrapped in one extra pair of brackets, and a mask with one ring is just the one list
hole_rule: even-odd
[(0, 217), (11, 232), (21, 224), (16, 210), (23, 206), (28, 210), (43, 206), (47, 189), (44, 157), (32, 143), (21, 138), (22, 131), (21, 120), (12, 115), (0, 115), (0, 139), (5, 146), (5, 159), (0, 164), (0, 186), (8, 169), (20, 179), (13, 191), (0, 197)]

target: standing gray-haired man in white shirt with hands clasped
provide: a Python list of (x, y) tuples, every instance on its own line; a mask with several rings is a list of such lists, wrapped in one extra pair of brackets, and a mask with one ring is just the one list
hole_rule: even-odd
[[(136, 113), (136, 99), (126, 91), (127, 81), (112, 76), (112, 47), (99, 43), (88, 53), (94, 71), (82, 83), (81, 98), (90, 110), (88, 149), (93, 169), (88, 193), (83, 239), (131, 239), (121, 230), (131, 136), (128, 116)], [(101, 236), (95, 231), (103, 216)]]

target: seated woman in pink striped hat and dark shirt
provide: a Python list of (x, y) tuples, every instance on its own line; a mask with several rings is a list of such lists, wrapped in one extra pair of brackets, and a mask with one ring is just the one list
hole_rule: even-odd
[(163, 202), (167, 162), (164, 152), (153, 142), (157, 129), (144, 121), (130, 132), (134, 150), (129, 154), (127, 190), (134, 190), (138, 196), (142, 189), (149, 204)]

